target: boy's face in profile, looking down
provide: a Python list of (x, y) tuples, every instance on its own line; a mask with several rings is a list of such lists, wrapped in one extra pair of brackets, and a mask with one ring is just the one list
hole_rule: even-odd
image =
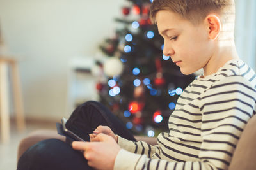
[(164, 55), (170, 56), (183, 74), (195, 73), (207, 65), (213, 48), (204, 22), (193, 25), (167, 10), (157, 12), (156, 22), (164, 38)]

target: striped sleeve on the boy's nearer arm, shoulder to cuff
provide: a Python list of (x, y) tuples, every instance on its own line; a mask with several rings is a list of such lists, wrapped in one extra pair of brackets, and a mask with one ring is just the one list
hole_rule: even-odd
[(255, 89), (242, 76), (218, 81), (200, 99), (202, 145), (198, 161), (150, 159), (146, 154), (134, 153), (136, 144), (130, 143), (122, 145), (114, 169), (228, 169), (244, 126), (255, 114), (255, 99)]

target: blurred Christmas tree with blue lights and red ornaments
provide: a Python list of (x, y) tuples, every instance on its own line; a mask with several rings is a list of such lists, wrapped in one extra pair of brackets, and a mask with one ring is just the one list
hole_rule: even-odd
[(100, 45), (108, 60), (97, 62), (97, 90), (99, 101), (134, 134), (155, 136), (168, 129), (177, 98), (195, 77), (184, 76), (163, 55), (163, 38), (149, 18), (151, 3), (130, 0), (122, 7), (115, 36)]

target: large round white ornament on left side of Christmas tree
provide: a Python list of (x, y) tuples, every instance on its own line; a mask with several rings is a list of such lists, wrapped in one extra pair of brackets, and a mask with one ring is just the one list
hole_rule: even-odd
[(108, 77), (118, 76), (123, 71), (123, 64), (118, 57), (109, 57), (104, 62), (103, 70)]

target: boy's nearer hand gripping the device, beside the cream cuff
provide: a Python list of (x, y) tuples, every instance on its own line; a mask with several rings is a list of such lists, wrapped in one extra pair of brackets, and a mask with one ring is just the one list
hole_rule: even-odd
[(115, 140), (106, 134), (98, 134), (93, 142), (74, 141), (74, 150), (82, 150), (88, 165), (95, 169), (113, 169), (120, 146)]

